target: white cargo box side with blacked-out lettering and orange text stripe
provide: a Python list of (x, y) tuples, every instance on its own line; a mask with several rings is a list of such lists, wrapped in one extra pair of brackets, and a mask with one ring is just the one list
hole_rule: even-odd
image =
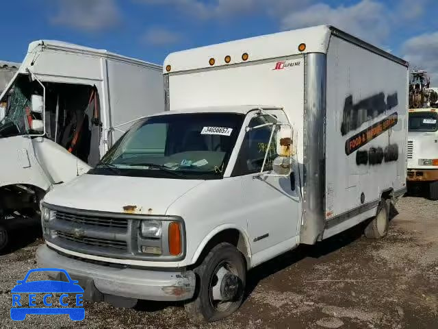
[(326, 117), (326, 219), (404, 188), (407, 67), (332, 37)]

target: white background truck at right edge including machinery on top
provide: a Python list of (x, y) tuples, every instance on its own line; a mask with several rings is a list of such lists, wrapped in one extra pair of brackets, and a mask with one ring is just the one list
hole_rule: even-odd
[(426, 71), (413, 71), (409, 85), (409, 190), (438, 200), (438, 93)]

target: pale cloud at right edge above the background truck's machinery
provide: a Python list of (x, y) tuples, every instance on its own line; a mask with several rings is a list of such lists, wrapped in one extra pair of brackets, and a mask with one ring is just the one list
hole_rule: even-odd
[(410, 38), (402, 45), (402, 53), (411, 68), (428, 71), (431, 86), (438, 86), (438, 31)]

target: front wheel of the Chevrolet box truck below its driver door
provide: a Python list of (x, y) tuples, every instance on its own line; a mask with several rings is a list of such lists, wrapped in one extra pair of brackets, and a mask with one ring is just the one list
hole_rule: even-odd
[(185, 304), (192, 317), (217, 321), (240, 307), (245, 290), (246, 263), (236, 247), (219, 243), (194, 271), (198, 293), (194, 300)]

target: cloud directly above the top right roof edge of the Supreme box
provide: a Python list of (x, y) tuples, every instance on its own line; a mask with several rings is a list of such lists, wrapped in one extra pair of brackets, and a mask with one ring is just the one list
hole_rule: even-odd
[(333, 8), (316, 3), (304, 10), (291, 12), (281, 19), (282, 29), (295, 29), (313, 25), (333, 25), (339, 29), (380, 45), (389, 36), (391, 22), (382, 3), (362, 0), (346, 7)]

